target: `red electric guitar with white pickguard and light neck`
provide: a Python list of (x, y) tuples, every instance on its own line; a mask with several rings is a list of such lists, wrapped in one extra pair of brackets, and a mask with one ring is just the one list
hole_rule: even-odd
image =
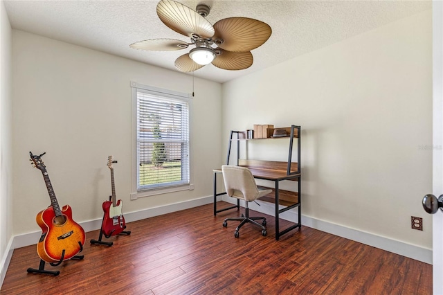
[(121, 199), (116, 201), (116, 187), (114, 185), (114, 168), (112, 167), (112, 163), (117, 163), (117, 161), (112, 161), (112, 156), (109, 156), (108, 167), (111, 170), (112, 195), (110, 197), (111, 201), (105, 201), (102, 205), (103, 211), (105, 211), (102, 222), (102, 233), (106, 238), (109, 238), (111, 235), (118, 235), (126, 228), (125, 217), (123, 217), (122, 213), (123, 202)]

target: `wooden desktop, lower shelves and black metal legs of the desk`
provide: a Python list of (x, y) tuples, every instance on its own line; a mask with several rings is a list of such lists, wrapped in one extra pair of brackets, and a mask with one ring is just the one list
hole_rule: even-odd
[[(246, 164), (246, 163), (245, 163)], [(302, 226), (302, 212), (301, 212), (301, 173), (287, 175), (286, 171), (275, 170), (271, 168), (258, 168), (256, 166), (239, 165), (249, 168), (251, 170), (254, 178), (264, 179), (268, 181), (273, 181), (275, 184), (275, 189), (269, 195), (261, 197), (259, 200), (264, 202), (271, 202), (275, 204), (275, 240), (278, 240), (281, 235)], [(214, 169), (214, 215), (221, 211), (226, 211), (233, 208), (239, 208), (239, 199), (237, 199), (237, 205), (230, 206), (228, 208), (221, 209), (217, 211), (217, 196), (225, 195), (226, 193), (217, 193), (217, 174), (221, 173), (221, 169)], [(298, 193), (291, 192), (289, 190), (280, 190), (280, 181), (291, 180), (297, 181)], [(280, 209), (279, 205), (285, 206)], [(280, 231), (280, 213), (288, 211), (292, 208), (298, 207), (298, 223), (293, 226), (289, 226), (287, 229)]]

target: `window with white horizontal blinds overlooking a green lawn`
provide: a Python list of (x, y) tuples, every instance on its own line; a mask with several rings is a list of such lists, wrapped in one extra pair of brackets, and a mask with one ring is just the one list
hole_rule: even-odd
[(188, 94), (134, 82), (132, 87), (136, 100), (137, 191), (189, 186)]

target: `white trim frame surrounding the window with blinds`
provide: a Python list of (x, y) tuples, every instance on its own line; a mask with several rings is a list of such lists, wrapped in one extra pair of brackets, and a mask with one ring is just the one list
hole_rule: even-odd
[[(169, 89), (161, 89), (158, 87), (152, 87), (149, 85), (139, 84), (137, 82), (131, 82), (132, 89), (132, 192), (131, 199), (138, 199), (139, 197), (148, 197), (151, 195), (160, 195), (164, 193), (173, 193), (181, 190), (192, 190), (192, 149), (191, 149), (191, 117), (192, 117), (192, 94), (182, 93), (178, 91), (172, 91)], [(156, 96), (163, 96), (165, 98), (174, 98), (178, 100), (183, 100), (183, 102), (188, 102), (188, 184), (171, 184), (171, 185), (161, 185), (152, 188), (139, 188), (138, 187), (138, 138), (137, 138), (137, 127), (138, 127), (138, 90), (146, 93), (152, 93)]]

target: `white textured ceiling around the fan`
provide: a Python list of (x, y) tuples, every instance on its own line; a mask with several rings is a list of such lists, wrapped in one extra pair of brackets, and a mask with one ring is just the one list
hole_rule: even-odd
[[(209, 64), (195, 76), (226, 82), (298, 55), (359, 35), (397, 19), (432, 8), (431, 1), (179, 1), (195, 10), (211, 7), (206, 19), (250, 17), (269, 24), (272, 35), (252, 51), (253, 65), (226, 71)], [(131, 60), (174, 68), (182, 51), (154, 52), (129, 48), (134, 42), (170, 38), (190, 42), (156, 15), (158, 1), (4, 1), (12, 28), (92, 48)], [(192, 75), (192, 73), (190, 73)]]

